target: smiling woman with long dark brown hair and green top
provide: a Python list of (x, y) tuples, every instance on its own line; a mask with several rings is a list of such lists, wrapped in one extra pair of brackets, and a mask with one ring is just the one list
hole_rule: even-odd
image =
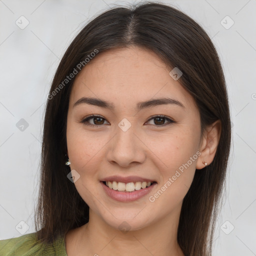
[(205, 31), (164, 4), (105, 11), (48, 94), (36, 232), (1, 255), (210, 255), (229, 148)]

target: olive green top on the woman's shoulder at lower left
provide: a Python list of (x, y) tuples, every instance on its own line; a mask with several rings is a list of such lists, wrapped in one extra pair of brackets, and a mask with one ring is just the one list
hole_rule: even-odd
[(44, 245), (36, 239), (35, 232), (0, 240), (1, 256), (67, 256), (64, 236)]

